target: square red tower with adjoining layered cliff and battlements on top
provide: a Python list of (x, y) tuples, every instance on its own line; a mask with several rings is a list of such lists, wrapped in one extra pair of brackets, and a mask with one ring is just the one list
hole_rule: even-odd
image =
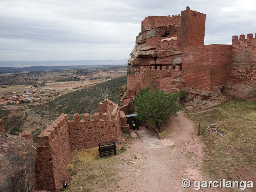
[(205, 14), (189, 7), (180, 15), (148, 16), (141, 22), (141, 31), (128, 60), (128, 73), (140, 67), (168, 66), (182, 68), (182, 50), (187, 46), (204, 45)]

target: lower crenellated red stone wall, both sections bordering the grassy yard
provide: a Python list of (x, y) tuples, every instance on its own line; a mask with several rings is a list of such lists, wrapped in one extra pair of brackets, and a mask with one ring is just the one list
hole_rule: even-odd
[[(99, 111), (102, 119), (98, 113), (93, 115), (93, 120), (89, 114), (84, 115), (84, 120), (75, 114), (74, 121), (67, 121), (67, 115), (62, 114), (39, 135), (35, 167), (37, 190), (60, 191), (71, 151), (96, 147), (110, 140), (119, 142), (122, 132), (118, 105), (104, 100), (99, 104)], [(122, 126), (125, 128), (124, 123)]]

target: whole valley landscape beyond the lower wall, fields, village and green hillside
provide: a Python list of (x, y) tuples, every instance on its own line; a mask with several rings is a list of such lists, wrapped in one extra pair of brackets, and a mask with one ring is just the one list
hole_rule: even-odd
[[(0, 99), (4, 98), (0, 102), (33, 97), (24, 104), (0, 105), (0, 119), (8, 133), (18, 135), (30, 131), (37, 142), (37, 136), (61, 113), (71, 118), (74, 113), (92, 115), (98, 111), (98, 103), (106, 98), (119, 102), (120, 86), (126, 84), (125, 75), (126, 67), (0, 74)], [(32, 93), (24, 96), (26, 90)]]

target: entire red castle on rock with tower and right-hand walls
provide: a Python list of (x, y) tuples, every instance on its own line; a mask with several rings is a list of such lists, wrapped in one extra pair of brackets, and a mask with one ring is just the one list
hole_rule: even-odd
[(145, 86), (188, 93), (188, 110), (228, 98), (256, 98), (256, 38), (233, 36), (231, 45), (204, 45), (205, 14), (189, 7), (181, 15), (149, 16), (128, 61), (127, 96)]

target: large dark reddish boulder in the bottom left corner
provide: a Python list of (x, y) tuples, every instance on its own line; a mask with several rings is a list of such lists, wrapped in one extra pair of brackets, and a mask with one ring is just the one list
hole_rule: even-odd
[(33, 141), (0, 133), (0, 190), (30, 192), (34, 188), (36, 148)]

